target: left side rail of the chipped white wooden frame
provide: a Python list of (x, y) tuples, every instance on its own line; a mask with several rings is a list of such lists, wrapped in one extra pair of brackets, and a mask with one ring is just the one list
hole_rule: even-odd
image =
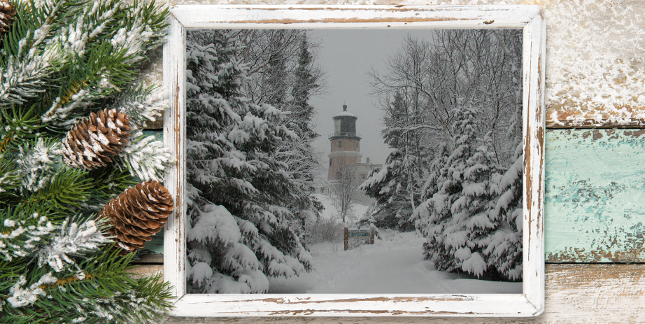
[(186, 260), (186, 29), (170, 17), (164, 43), (164, 92), (170, 108), (164, 113), (164, 143), (175, 164), (166, 174), (164, 185), (170, 190), (175, 210), (164, 226), (164, 281), (173, 284), (172, 294), (183, 296)]

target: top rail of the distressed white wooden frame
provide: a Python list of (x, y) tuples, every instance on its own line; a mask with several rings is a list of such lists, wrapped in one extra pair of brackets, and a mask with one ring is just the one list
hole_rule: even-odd
[[(523, 28), (539, 6), (175, 6), (186, 28)], [(331, 24), (333, 22), (333, 24)], [(250, 26), (253, 23), (262, 25)]]

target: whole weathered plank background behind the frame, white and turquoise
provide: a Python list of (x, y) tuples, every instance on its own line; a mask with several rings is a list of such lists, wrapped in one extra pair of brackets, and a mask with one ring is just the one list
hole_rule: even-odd
[[(645, 1), (222, 0), (520, 4), (547, 22), (546, 311), (535, 318), (166, 318), (163, 323), (645, 323)], [(146, 78), (162, 83), (161, 51)], [(160, 125), (150, 125), (159, 129)], [(627, 128), (627, 129), (625, 129)], [(158, 255), (136, 272), (162, 269)], [(151, 262), (151, 263), (150, 263)]]

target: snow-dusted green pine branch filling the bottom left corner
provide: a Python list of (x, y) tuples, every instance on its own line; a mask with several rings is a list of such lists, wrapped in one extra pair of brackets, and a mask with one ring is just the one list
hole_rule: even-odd
[(49, 273), (36, 269), (30, 274), (31, 280), (22, 281), (20, 287), (25, 290), (30, 284), (31, 290), (41, 289), (42, 297), (22, 307), (7, 304), (0, 322), (154, 323), (171, 306), (168, 283), (160, 283), (160, 274), (131, 279), (127, 265), (133, 256), (120, 258), (116, 251), (104, 251), (81, 262), (76, 272), (61, 274), (37, 286), (35, 283), (43, 276), (49, 279)]

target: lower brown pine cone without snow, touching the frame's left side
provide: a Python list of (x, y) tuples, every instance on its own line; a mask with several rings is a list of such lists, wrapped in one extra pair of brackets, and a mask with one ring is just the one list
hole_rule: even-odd
[(143, 182), (112, 199), (99, 213), (114, 225), (108, 232), (125, 251), (143, 248), (157, 234), (174, 209), (168, 189), (157, 181)]

